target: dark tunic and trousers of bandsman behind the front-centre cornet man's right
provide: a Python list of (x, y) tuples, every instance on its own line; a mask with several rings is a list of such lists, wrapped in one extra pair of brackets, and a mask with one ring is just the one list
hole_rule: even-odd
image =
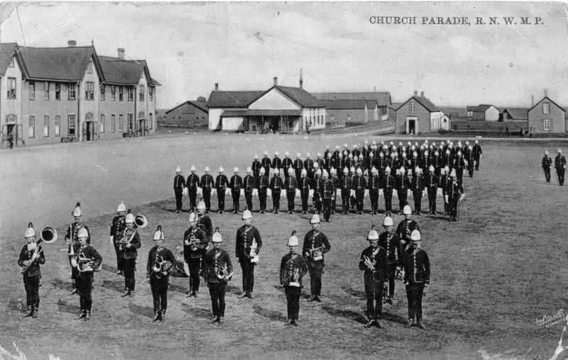
[[(312, 258), (311, 249), (321, 248), (322, 259), (315, 260)], [(307, 269), (310, 271), (310, 291), (312, 296), (320, 296), (322, 293), (322, 274), (324, 273), (324, 254), (329, 252), (332, 246), (329, 240), (320, 230), (310, 230), (304, 237), (304, 246), (302, 247), (302, 257), (304, 257)]]

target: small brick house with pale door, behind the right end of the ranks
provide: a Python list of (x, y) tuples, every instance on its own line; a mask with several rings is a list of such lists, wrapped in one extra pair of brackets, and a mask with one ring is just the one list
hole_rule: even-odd
[(433, 133), (442, 128), (443, 115), (437, 106), (424, 97), (424, 91), (420, 96), (414, 91), (414, 96), (396, 109), (395, 133)]

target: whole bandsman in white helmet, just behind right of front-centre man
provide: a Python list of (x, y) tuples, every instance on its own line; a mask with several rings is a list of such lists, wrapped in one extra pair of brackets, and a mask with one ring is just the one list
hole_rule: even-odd
[(312, 230), (307, 232), (304, 237), (304, 246), (302, 247), (302, 255), (306, 261), (307, 269), (310, 271), (310, 291), (312, 296), (308, 301), (322, 302), (322, 274), (324, 272), (324, 254), (329, 252), (332, 246), (329, 240), (320, 231), (320, 215), (312, 215), (310, 220)]

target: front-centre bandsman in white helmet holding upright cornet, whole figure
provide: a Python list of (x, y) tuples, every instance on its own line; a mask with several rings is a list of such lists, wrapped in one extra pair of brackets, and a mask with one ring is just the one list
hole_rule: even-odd
[(302, 295), (302, 277), (307, 273), (306, 261), (296, 254), (298, 245), (295, 231), (288, 240), (290, 252), (280, 261), (280, 285), (284, 287), (286, 302), (288, 303), (288, 323), (297, 326), (297, 317), (300, 313), (300, 296)]

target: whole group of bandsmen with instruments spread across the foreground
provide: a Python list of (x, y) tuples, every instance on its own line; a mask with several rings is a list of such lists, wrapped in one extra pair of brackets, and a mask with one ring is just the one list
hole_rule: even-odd
[[(209, 288), (213, 317), (209, 323), (224, 323), (226, 308), (226, 284), (231, 281), (234, 271), (229, 253), (222, 249), (223, 237), (219, 227), (214, 231), (211, 219), (205, 213), (205, 205), (200, 202), (197, 213), (190, 213), (190, 227), (185, 231), (182, 247), (173, 254), (164, 246), (165, 234), (158, 225), (154, 232), (154, 246), (148, 252), (146, 261), (146, 279), (150, 284), (154, 316), (152, 322), (165, 321), (168, 308), (169, 276), (188, 277), (190, 291), (187, 297), (197, 298), (199, 295), (200, 277)], [(121, 203), (117, 215), (111, 223), (110, 242), (116, 249), (116, 266), (119, 275), (124, 276), (123, 298), (132, 298), (136, 286), (136, 259), (142, 245), (138, 228), (146, 227), (148, 221), (143, 215), (134, 216), (126, 211)], [(369, 247), (361, 253), (359, 269), (364, 271), (364, 288), (366, 294), (365, 327), (381, 328), (379, 320), (382, 316), (383, 303), (393, 304), (395, 279), (402, 280), (408, 299), (407, 327), (416, 326), (425, 330), (422, 322), (422, 297), (425, 288), (430, 285), (430, 261), (426, 252), (420, 249), (422, 236), (418, 224), (410, 218), (410, 207), (405, 206), (405, 219), (400, 221), (394, 230), (393, 218), (387, 214), (383, 219), (384, 232), (381, 235), (374, 229), (368, 232), (366, 240)], [(67, 227), (65, 242), (67, 254), (72, 267), (71, 295), (78, 293), (80, 298), (80, 314), (75, 320), (91, 320), (92, 290), (94, 273), (102, 269), (102, 257), (90, 245), (89, 227), (82, 222), (82, 210), (77, 203), (72, 213), (73, 223)], [(243, 225), (236, 232), (235, 257), (241, 265), (243, 293), (240, 299), (253, 299), (254, 269), (258, 264), (262, 248), (261, 234), (251, 223), (253, 216), (250, 210), (244, 210)], [(310, 218), (309, 230), (298, 253), (299, 240), (293, 231), (288, 239), (289, 252), (280, 261), (279, 283), (286, 295), (288, 321), (286, 325), (299, 325), (300, 296), (302, 294), (302, 278), (310, 274), (310, 293), (307, 302), (322, 302), (322, 275), (324, 274), (324, 254), (329, 252), (331, 244), (327, 235), (322, 232), (320, 215)], [(29, 223), (24, 232), (26, 244), (18, 257), (21, 274), (26, 289), (26, 317), (38, 317), (40, 304), (40, 266), (45, 264), (45, 255), (41, 242), (52, 244), (58, 239), (53, 227), (45, 227), (36, 240), (35, 229)], [(356, 259), (353, 259), (354, 263)]]

